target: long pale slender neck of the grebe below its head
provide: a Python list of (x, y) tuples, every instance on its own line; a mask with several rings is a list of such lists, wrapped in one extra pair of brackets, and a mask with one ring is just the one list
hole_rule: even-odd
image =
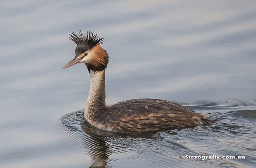
[(84, 110), (84, 116), (88, 119), (94, 119), (97, 111), (106, 108), (106, 86), (105, 69), (102, 71), (90, 70), (90, 91)]

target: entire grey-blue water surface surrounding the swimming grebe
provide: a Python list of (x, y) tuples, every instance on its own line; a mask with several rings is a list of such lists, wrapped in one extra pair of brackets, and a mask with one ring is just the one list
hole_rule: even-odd
[[(0, 1), (0, 167), (253, 167), (253, 1)], [(67, 36), (105, 38), (106, 103), (180, 102), (215, 123), (133, 136), (84, 123), (89, 75)], [(244, 155), (245, 160), (181, 160)]]

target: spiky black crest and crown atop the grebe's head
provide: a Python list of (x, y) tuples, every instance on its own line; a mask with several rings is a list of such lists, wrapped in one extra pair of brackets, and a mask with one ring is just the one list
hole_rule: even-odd
[(93, 32), (87, 32), (85, 35), (81, 32), (81, 30), (78, 31), (78, 34), (75, 34), (72, 32), (69, 34), (70, 37), (68, 37), (70, 40), (75, 42), (77, 44), (76, 46), (76, 56), (82, 54), (83, 52), (90, 50), (94, 46), (97, 46), (98, 44), (104, 43), (102, 40), (103, 38), (99, 38), (97, 34), (94, 34)]

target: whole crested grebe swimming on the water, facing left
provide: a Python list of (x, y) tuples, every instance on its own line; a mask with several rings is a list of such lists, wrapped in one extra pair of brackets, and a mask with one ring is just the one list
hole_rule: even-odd
[(174, 102), (161, 99), (131, 99), (112, 106), (105, 104), (105, 69), (109, 55), (101, 47), (103, 38), (93, 32), (83, 35), (69, 34), (77, 44), (75, 58), (62, 69), (76, 63), (85, 63), (90, 73), (90, 91), (84, 110), (84, 117), (98, 129), (122, 132), (148, 132), (160, 129), (193, 128), (210, 125), (210, 117), (198, 114)]

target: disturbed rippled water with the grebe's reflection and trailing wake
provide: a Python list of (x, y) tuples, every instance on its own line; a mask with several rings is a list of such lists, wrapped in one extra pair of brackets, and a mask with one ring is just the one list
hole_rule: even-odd
[[(246, 160), (204, 160), (206, 166), (244, 167), (254, 164), (252, 124), (255, 123), (255, 102), (244, 106), (220, 103), (183, 103), (207, 113), (214, 121), (210, 126), (193, 129), (162, 130), (144, 134), (120, 134), (99, 130), (87, 124), (83, 111), (67, 114), (59, 124), (59, 138), (69, 146), (86, 153), (91, 167), (197, 167), (202, 160), (180, 160), (180, 155), (242, 155)], [(188, 105), (189, 104), (189, 105)], [(214, 106), (215, 109), (207, 107)], [(229, 110), (227, 110), (229, 109)], [(246, 142), (244, 141), (246, 139)], [(84, 152), (82, 152), (84, 151)], [(85, 155), (85, 156), (86, 156)]]

